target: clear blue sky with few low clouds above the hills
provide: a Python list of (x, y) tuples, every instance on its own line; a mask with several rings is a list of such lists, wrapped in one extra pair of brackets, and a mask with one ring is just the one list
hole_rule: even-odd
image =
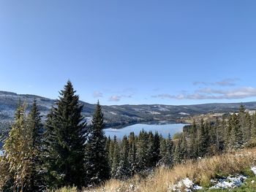
[(0, 1), (0, 90), (102, 104), (256, 101), (256, 1)]

